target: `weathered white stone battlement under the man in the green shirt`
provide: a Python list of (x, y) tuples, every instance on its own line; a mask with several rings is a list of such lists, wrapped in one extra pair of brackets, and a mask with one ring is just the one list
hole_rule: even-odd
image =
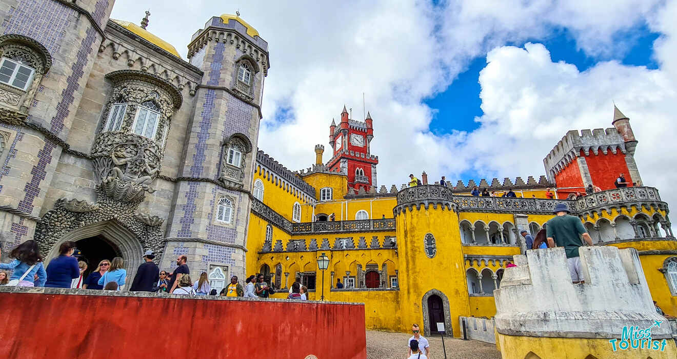
[[(531, 337), (620, 338), (623, 327), (665, 320), (653, 306), (635, 249), (581, 247), (584, 284), (573, 284), (563, 247), (515, 255), (496, 299), (496, 331)], [(651, 331), (672, 338), (670, 327)]]

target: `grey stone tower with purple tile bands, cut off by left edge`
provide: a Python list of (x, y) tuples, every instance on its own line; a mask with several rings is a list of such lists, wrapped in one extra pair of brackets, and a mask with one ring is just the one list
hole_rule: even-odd
[(16, 72), (0, 79), (2, 251), (31, 239), (46, 210), (113, 3), (0, 0), (0, 58)]

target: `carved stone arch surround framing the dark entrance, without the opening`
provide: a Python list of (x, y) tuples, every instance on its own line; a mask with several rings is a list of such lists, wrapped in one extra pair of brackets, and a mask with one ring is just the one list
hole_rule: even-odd
[[(125, 284), (125, 289), (129, 289), (131, 280), (134, 278), (136, 270), (141, 264), (144, 248), (132, 232), (115, 220), (90, 224), (68, 232), (51, 247), (51, 250), (47, 255), (46, 263), (49, 263), (52, 258), (59, 255), (59, 247), (63, 242), (72, 240), (77, 243), (79, 240), (86, 238), (90, 239), (95, 236), (105, 238), (106, 242), (108, 242), (109, 245), (113, 245), (114, 248), (121, 253), (123, 259), (125, 259), (125, 270), (127, 270), (127, 284)], [(97, 265), (97, 263), (92, 264), (94, 266)]]

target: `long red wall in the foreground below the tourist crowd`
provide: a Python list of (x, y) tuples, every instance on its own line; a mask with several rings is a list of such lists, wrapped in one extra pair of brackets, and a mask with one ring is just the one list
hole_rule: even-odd
[(364, 305), (0, 293), (1, 358), (366, 358)]

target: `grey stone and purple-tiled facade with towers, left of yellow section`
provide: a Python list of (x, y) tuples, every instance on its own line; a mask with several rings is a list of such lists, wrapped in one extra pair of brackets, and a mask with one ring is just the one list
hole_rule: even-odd
[(0, 83), (1, 251), (97, 236), (130, 277), (152, 249), (242, 278), (267, 43), (214, 17), (187, 62), (109, 20), (114, 0), (0, 4), (0, 56), (35, 69)]

